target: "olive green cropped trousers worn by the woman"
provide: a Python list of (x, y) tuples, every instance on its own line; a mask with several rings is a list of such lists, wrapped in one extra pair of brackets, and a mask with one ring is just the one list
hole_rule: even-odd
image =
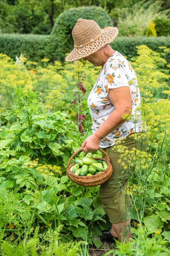
[[(138, 142), (129, 136), (125, 138), (124, 143), (121, 142), (116, 145), (126, 146), (129, 151), (132, 148), (139, 148)], [(114, 145), (109, 148), (102, 148), (111, 160), (113, 172), (111, 177), (100, 186), (99, 197), (111, 223), (118, 224), (130, 219), (129, 207), (131, 199), (126, 192), (130, 169), (128, 172), (123, 171), (121, 163), (118, 163), (120, 152), (113, 147)], [(105, 158), (103, 153), (102, 157)]]

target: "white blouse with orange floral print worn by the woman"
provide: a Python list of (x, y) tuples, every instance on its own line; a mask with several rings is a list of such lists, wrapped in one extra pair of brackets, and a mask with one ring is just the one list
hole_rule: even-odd
[(130, 87), (133, 117), (129, 121), (125, 121), (111, 134), (108, 134), (108, 136), (100, 142), (99, 146), (101, 148), (111, 147), (118, 140), (123, 140), (129, 134), (143, 131), (141, 113), (135, 111), (135, 109), (140, 106), (140, 92), (136, 73), (127, 59), (116, 51), (101, 68), (96, 83), (88, 96), (88, 107), (93, 122), (91, 126), (93, 133), (105, 122), (114, 110), (114, 106), (109, 99), (108, 90), (122, 86)]

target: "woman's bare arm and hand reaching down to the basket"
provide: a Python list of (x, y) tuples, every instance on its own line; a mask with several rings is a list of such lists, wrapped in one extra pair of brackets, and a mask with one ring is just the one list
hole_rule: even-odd
[(82, 143), (81, 148), (84, 148), (84, 152), (98, 150), (100, 141), (121, 126), (125, 122), (122, 120), (122, 116), (130, 114), (132, 111), (130, 87), (109, 89), (109, 98), (114, 106), (114, 111), (97, 131)]

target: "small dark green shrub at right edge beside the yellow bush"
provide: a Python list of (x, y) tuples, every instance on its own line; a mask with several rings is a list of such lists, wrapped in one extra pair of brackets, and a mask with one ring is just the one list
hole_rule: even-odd
[(154, 20), (157, 36), (168, 36), (170, 35), (170, 19), (157, 17)]

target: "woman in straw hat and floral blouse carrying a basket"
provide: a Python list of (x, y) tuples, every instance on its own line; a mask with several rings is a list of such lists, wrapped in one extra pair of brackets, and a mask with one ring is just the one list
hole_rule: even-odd
[[(99, 194), (112, 223), (111, 231), (102, 233), (104, 241), (130, 239), (128, 208), (131, 201), (125, 193), (128, 177), (122, 175), (121, 164), (118, 163), (120, 154), (113, 145), (121, 141), (119, 145), (130, 150), (135, 147), (135, 140), (128, 136), (142, 131), (140, 113), (135, 111), (140, 104), (136, 74), (127, 59), (109, 45), (117, 35), (116, 27), (101, 29), (94, 20), (79, 19), (72, 31), (74, 50), (65, 58), (66, 61), (83, 58), (95, 67), (102, 66), (88, 96), (93, 135), (85, 139), (81, 147), (84, 152), (102, 148), (113, 166), (112, 176), (102, 184)], [(130, 80), (133, 82), (129, 83)], [(137, 122), (122, 119), (123, 115), (130, 113), (138, 115)]]

